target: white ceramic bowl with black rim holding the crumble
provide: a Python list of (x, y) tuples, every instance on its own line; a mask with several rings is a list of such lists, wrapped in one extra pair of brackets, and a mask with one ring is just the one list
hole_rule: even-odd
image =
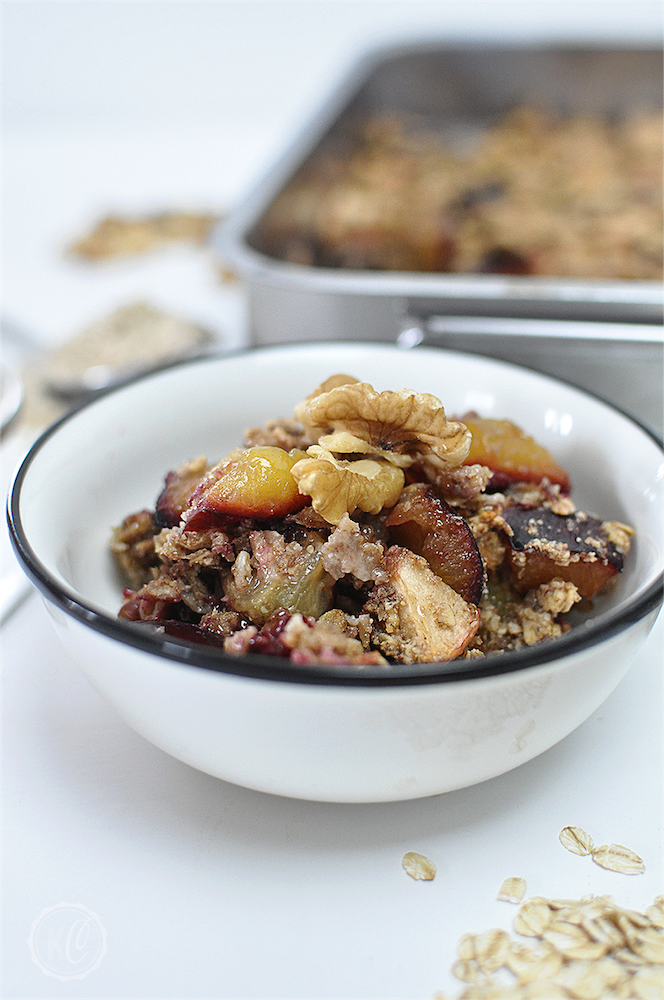
[[(636, 528), (619, 585), (553, 642), (479, 660), (296, 667), (146, 634), (116, 617), (111, 527), (153, 506), (165, 473), (222, 458), (244, 429), (290, 416), (334, 372), (510, 417), (572, 478), (581, 508)], [(15, 549), (55, 628), (139, 733), (202, 771), (325, 801), (418, 798), (501, 774), (563, 739), (636, 659), (664, 592), (664, 455), (599, 400), (512, 365), (439, 350), (303, 345), (195, 360), (139, 379), (48, 430), (10, 496)]]

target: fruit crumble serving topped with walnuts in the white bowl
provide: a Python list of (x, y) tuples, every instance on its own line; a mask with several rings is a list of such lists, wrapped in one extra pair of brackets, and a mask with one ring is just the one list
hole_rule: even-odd
[(122, 619), (358, 669), (530, 646), (615, 580), (633, 531), (576, 510), (509, 420), (334, 375), (114, 529)]

